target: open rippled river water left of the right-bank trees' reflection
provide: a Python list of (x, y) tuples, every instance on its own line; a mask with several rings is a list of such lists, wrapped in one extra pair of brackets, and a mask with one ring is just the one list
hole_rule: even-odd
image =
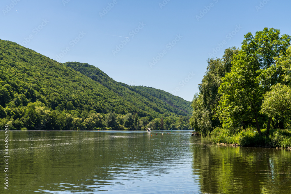
[(11, 192), (198, 192), (188, 133), (11, 131)]

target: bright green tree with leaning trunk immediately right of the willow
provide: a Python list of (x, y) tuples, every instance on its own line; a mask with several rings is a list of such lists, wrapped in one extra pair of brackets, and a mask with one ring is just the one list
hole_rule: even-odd
[(246, 52), (235, 57), (231, 73), (227, 73), (219, 87), (221, 101), (219, 115), (223, 125), (235, 127), (249, 116), (261, 135), (258, 114), (262, 103), (263, 87), (259, 79), (259, 65)]

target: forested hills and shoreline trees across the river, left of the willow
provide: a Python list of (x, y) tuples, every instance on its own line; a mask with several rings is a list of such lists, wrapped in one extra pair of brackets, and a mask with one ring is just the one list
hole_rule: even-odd
[(93, 65), (0, 40), (0, 67), (0, 124), (10, 129), (191, 129), (191, 102), (118, 83)]

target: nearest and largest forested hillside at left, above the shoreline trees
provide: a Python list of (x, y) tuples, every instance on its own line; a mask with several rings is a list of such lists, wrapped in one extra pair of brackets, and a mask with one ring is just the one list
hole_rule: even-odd
[(15, 102), (15, 97), (21, 97), (27, 99), (21, 101), (24, 106), (40, 101), (60, 111), (66, 109), (69, 101), (74, 108), (88, 105), (99, 113), (124, 114), (138, 110), (115, 92), (62, 63), (13, 42), (0, 40), (0, 46), (1, 85), (3, 90), (10, 91), (1, 97), (3, 107)]

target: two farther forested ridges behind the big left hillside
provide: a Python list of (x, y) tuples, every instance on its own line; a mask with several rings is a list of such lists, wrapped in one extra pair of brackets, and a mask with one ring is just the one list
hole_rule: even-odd
[[(99, 68), (87, 63), (67, 62), (64, 64), (102, 84), (102, 86), (105, 86), (120, 95), (127, 102), (134, 104), (144, 111), (149, 106), (161, 114), (170, 112), (178, 115), (190, 115), (192, 112), (191, 102), (173, 96), (163, 90), (152, 88), (148, 92), (143, 87), (129, 86), (125, 83), (114, 81)], [(157, 93), (155, 94), (155, 92)]]

